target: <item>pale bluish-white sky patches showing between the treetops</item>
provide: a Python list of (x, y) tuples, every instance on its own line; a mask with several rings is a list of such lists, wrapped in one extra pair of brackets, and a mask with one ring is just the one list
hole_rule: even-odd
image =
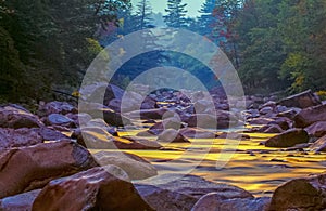
[[(131, 0), (133, 5), (137, 5), (139, 0)], [(188, 11), (188, 16), (196, 17), (198, 16), (198, 10), (203, 4), (204, 0), (183, 0), (183, 3), (187, 3), (186, 10)], [(165, 13), (165, 9), (167, 8), (167, 0), (150, 0), (151, 6), (153, 8), (154, 13)]]

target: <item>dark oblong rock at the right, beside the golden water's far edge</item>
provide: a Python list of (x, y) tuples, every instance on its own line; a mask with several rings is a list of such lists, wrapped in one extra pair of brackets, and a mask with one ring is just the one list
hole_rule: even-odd
[(291, 129), (276, 136), (268, 139), (265, 142), (267, 147), (291, 147), (296, 144), (309, 142), (308, 133), (302, 129)]

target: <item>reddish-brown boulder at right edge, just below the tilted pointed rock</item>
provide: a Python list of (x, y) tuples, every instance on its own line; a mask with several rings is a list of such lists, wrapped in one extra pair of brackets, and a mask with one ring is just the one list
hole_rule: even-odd
[(305, 128), (317, 121), (326, 121), (326, 105), (302, 109), (294, 116), (297, 128)]

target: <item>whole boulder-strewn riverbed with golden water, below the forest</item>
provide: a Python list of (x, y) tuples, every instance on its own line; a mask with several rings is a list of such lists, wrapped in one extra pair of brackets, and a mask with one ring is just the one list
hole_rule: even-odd
[(67, 102), (40, 103), (35, 114), (1, 106), (0, 209), (326, 209), (326, 105), (311, 91), (142, 97), (143, 89), (109, 85), (103, 104), (79, 109)]

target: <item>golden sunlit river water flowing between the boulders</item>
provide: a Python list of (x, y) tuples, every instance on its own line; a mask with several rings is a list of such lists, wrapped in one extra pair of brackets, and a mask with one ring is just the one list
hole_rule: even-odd
[[(137, 132), (120, 132), (120, 135)], [(148, 159), (160, 173), (184, 173), (185, 169), (192, 169), (191, 174), (242, 187), (255, 196), (271, 196), (278, 185), (291, 179), (325, 172), (326, 154), (268, 148), (260, 142), (273, 134), (252, 133), (250, 136), (251, 140), (240, 141), (235, 150), (223, 150), (225, 143), (237, 143), (233, 140), (190, 139), (196, 144), (168, 144), (164, 150), (124, 151)], [(224, 157), (230, 159), (223, 168), (216, 168), (216, 161)]]

